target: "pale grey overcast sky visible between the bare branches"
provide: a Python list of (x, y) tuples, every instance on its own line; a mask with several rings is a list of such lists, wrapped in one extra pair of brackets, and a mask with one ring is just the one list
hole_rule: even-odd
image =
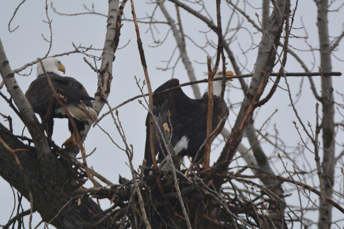
[[(12, 69), (19, 68), (28, 62), (36, 60), (38, 57), (43, 57), (49, 47), (49, 44), (43, 41), (41, 35), (43, 34), (47, 38), (50, 37), (49, 27), (46, 23), (42, 22), (42, 20), (46, 20), (44, 9), (45, 1), (43, 0), (24, 2), (11, 23), (11, 29), (20, 25), (19, 28), (13, 33), (10, 33), (8, 31), (8, 22), (11, 19), (15, 8), (17, 8), (20, 2), (21, 1), (17, 0), (0, 0), (0, 37)], [(255, 7), (260, 7), (261, 4), (260, 1), (249, 2), (256, 4)], [(295, 3), (294, 1), (292, 2), (293, 10), (295, 7)], [(92, 7), (92, 1), (54, 1), (53, 3), (56, 10), (63, 13), (85, 12), (86, 10), (84, 9), (83, 4), (85, 4), (88, 8)], [(341, 3), (342, 1), (337, 1), (335, 5), (339, 6)], [(49, 18), (53, 20), (53, 44), (49, 55), (60, 54), (66, 51), (73, 50), (72, 42), (76, 46), (81, 44), (85, 47), (92, 45), (93, 48), (103, 48), (106, 33), (106, 17), (100, 15), (80, 15), (73, 17), (61, 16), (52, 11), (50, 2), (48, 2), (48, 5)], [(165, 5), (166, 7), (168, 7), (171, 15), (174, 17), (174, 6), (169, 2), (166, 2)], [(333, 9), (336, 8), (335, 5), (332, 7)], [(94, 7), (96, 12), (103, 14), (107, 14), (108, 12), (107, 1), (97, 1), (95, 2)], [(147, 16), (146, 13), (151, 14), (154, 7), (155, 4), (147, 4), (146, 1), (135, 1), (135, 8), (138, 18)], [(242, 5), (240, 7), (243, 8)], [(252, 9), (248, 5), (246, 5), (246, 7), (247, 13), (250, 15), (250, 17), (257, 21), (255, 12), (261, 15), (261, 9)], [(228, 8), (226, 7), (226, 3), (224, 1), (222, 1), (222, 9), (224, 29), (226, 27), (226, 23), (228, 21), (228, 16), (230, 13), (228, 11), (225, 11), (225, 9), (228, 10)], [(207, 10), (209, 14), (212, 15), (213, 19), (215, 19), (215, 5), (209, 4)], [(125, 17), (128, 19), (132, 18), (130, 11), (131, 9), (129, 1), (127, 2), (124, 13)], [(183, 9), (180, 9), (180, 11), (185, 33), (188, 36), (192, 37), (198, 45), (204, 45), (205, 36), (207, 36), (209, 39), (212, 39), (212, 41), (217, 42), (217, 38), (213, 32), (209, 32), (206, 35), (203, 33), (209, 30), (203, 22), (196, 19), (194, 16), (187, 14)], [(155, 17), (159, 21), (165, 21), (165, 19), (162, 17), (160, 9), (156, 10)], [(237, 17), (234, 16), (232, 20), (233, 24), (230, 25), (230, 28), (236, 27)], [(343, 30), (344, 10), (342, 9), (340, 12), (330, 13), (329, 21), (330, 35), (338, 36)], [(302, 22), (307, 28), (307, 32), (309, 35), (307, 42), (314, 48), (318, 47), (319, 42), (316, 27), (316, 6), (314, 1), (299, 1), (297, 13), (295, 15), (295, 21), (293, 24), (293, 27), (295, 28), (292, 31), (293, 34), (297, 34), (298, 36), (305, 36), (304, 30), (301, 29), (301, 27), (303, 26)], [(117, 49), (115, 53), (116, 59), (114, 61), (113, 67), (114, 78), (111, 84), (111, 93), (108, 98), (111, 106), (116, 106), (119, 103), (140, 94), (140, 91), (136, 86), (134, 76), (144, 79), (140, 57), (137, 50), (136, 34), (133, 23), (129, 21), (123, 21), (122, 24), (123, 26), (121, 28), (119, 47), (123, 47), (128, 42), (129, 43), (128, 45), (126, 45), (126, 47)], [(139, 26), (152, 89), (155, 90), (160, 84), (170, 79), (172, 76), (171, 70), (161, 71), (157, 68), (165, 67), (166, 63), (162, 61), (169, 59), (169, 57), (173, 53), (173, 49), (176, 43), (170, 31), (166, 41), (161, 46), (153, 48), (151, 46), (155, 46), (157, 44), (152, 42), (152, 36), (150, 32), (145, 33), (149, 28), (148, 24), (140, 23)], [(158, 28), (158, 31), (154, 31), (154, 36), (156, 39), (162, 41), (165, 37), (166, 31), (169, 30), (169, 26), (166, 24), (158, 24), (156, 26)], [(245, 65), (248, 71), (253, 71), (254, 63), (256, 61), (256, 53), (258, 51), (256, 45), (259, 43), (260, 33), (256, 33), (256, 29), (246, 22), (243, 26), (247, 27), (247, 29), (250, 30), (251, 33), (255, 33), (252, 34), (254, 36), (255, 45), (251, 47), (251, 37), (245, 29), (242, 29), (235, 35), (236, 39), (230, 45), (230, 48), (232, 48), (233, 52), (236, 55), (236, 58), (240, 60), (241, 64)], [(233, 35), (233, 33), (230, 33), (230, 35)], [(229, 36), (227, 36), (226, 38), (228, 37)], [(304, 39), (290, 38), (290, 43), (295, 48), (308, 49), (307, 44), (304, 42)], [(200, 49), (197, 49), (188, 39), (186, 45), (189, 58), (192, 61), (193, 67), (195, 69), (197, 79), (205, 78), (206, 76), (204, 75), (204, 72), (206, 71), (206, 66), (204, 64), (200, 64), (200, 62), (204, 63), (206, 61), (206, 53)], [(245, 57), (242, 54), (242, 50), (240, 50), (240, 48), (242, 48), (243, 50), (252, 50), (250, 50), (249, 55)], [(336, 52), (336, 56), (340, 59), (344, 59), (344, 54), (342, 51), (344, 50), (343, 42), (340, 44), (340, 46), (338, 46), (337, 49), (339, 49), (340, 51)], [(206, 50), (212, 56), (215, 53), (215, 50), (212, 48), (207, 47)], [(93, 53), (99, 56), (101, 54), (101, 51)], [(315, 59), (313, 59), (313, 53), (310, 51), (302, 53), (298, 52), (298, 54), (303, 58), (305, 64), (311, 71), (318, 71), (317, 66), (320, 65), (318, 52), (314, 52)], [(176, 51), (175, 55), (179, 55), (178, 50)], [(173, 63), (176, 61), (176, 56), (172, 60)], [(68, 56), (58, 57), (58, 59), (61, 60), (66, 68), (65, 76), (74, 77), (82, 82), (88, 93), (92, 96), (97, 90), (97, 75), (85, 63), (83, 57), (84, 56), (82, 54), (70, 54)], [(89, 60), (89, 62), (93, 63), (93, 59), (87, 59)], [(227, 55), (226, 61), (229, 62)], [(97, 62), (97, 66), (98, 68), (100, 67), (100, 61)], [(344, 72), (344, 65), (342, 61), (332, 58), (332, 66), (333, 71)], [(241, 69), (243, 68), (241, 67)], [(29, 73), (30, 70), (31, 68), (29, 67), (21, 73)], [(233, 70), (233, 67), (230, 63), (227, 65), (227, 70)], [(274, 70), (277, 71), (278, 68), (275, 68)], [(300, 67), (300, 64), (298, 64), (291, 56), (288, 56), (286, 70), (288, 72), (303, 71)], [(243, 73), (249, 73), (248, 71), (243, 70)], [(16, 75), (15, 77), (21, 89), (23, 90), (23, 92), (25, 92), (29, 87), (31, 81), (33, 81), (36, 77), (35, 66), (33, 67), (32, 74), (30, 76), (23, 77)], [(178, 78), (181, 83), (189, 81), (181, 60), (179, 60), (179, 64), (175, 68), (174, 77)], [(300, 80), (301, 78), (296, 77), (288, 78), (294, 100), (295, 95), (299, 91)], [(247, 81), (249, 81), (249, 79), (247, 79)], [(317, 83), (317, 90), (318, 93), (320, 93), (320, 78), (314, 77), (314, 81)], [(333, 77), (333, 82), (334, 92), (338, 91), (340, 93), (344, 93), (343, 77)], [(265, 90), (265, 93), (269, 91), (271, 85), (272, 84), (270, 82)], [(281, 79), (280, 85), (282, 88), (286, 88), (284, 79)], [(199, 86), (201, 89), (201, 93), (203, 93), (206, 84), (203, 83)], [(228, 98), (229, 96), (232, 103), (240, 102), (243, 99), (243, 93), (239, 89), (235, 89), (235, 87), (239, 87), (239, 83), (237, 80), (234, 80), (231, 86), (227, 87), (230, 92), (229, 95), (225, 95), (226, 98)], [(316, 101), (313, 94), (310, 93), (309, 88), (310, 86), (308, 79), (304, 79), (303, 91), (301, 98), (297, 103), (297, 109), (303, 121), (305, 123), (307, 123), (307, 121), (310, 121), (310, 123), (312, 123), (314, 127)], [(145, 92), (147, 92), (146, 88), (144, 90)], [(190, 97), (194, 97), (191, 87), (184, 87), (183, 90)], [(5, 87), (1, 89), (1, 92), (8, 95)], [(338, 103), (343, 103), (340, 96), (337, 95), (336, 101)], [(299, 136), (297, 135), (297, 132), (295, 131), (295, 128), (292, 124), (293, 120), (296, 121), (296, 117), (289, 104), (290, 101), (288, 98), (288, 93), (284, 90), (277, 89), (277, 92), (273, 95), (272, 99), (266, 105), (256, 110), (255, 127), (259, 129), (261, 125), (266, 121), (266, 119), (275, 111), (275, 109), (278, 108), (278, 112), (273, 116), (272, 121), (270, 121), (269, 127), (267, 129), (263, 128), (263, 131), (264, 133), (269, 132), (270, 134), (274, 134), (275, 130), (273, 129), (273, 124), (276, 123), (276, 128), (278, 129), (279, 135), (283, 139), (285, 144), (290, 147), (295, 147), (298, 145)], [(107, 110), (107, 107), (104, 106), (103, 110), (100, 112), (100, 115), (105, 113)], [(127, 141), (128, 143), (133, 145), (133, 163), (134, 166), (137, 168), (143, 160), (144, 142), (146, 137), (146, 128), (144, 124), (147, 112), (137, 102), (137, 100), (134, 100), (120, 107), (118, 111), (123, 129), (127, 137)], [(236, 111), (238, 111), (238, 109)], [(8, 107), (7, 103), (2, 98), (0, 98), (0, 112), (5, 115), (10, 115), (13, 118), (14, 133), (20, 135), (23, 129), (23, 123)], [(234, 124), (236, 119), (235, 115), (235, 112), (230, 112), (228, 121), (226, 123), (226, 127), (228, 129), (232, 128), (232, 125)], [(339, 122), (341, 120), (342, 118), (340, 117), (338, 112), (336, 112), (335, 121)], [(0, 117), (0, 122), (4, 126), (8, 126), (8, 123), (5, 122), (4, 118), (2, 117)], [(121, 138), (117, 133), (116, 127), (110, 116), (107, 116), (106, 118), (101, 120), (99, 125), (106, 129), (106, 131), (112, 136), (115, 142), (123, 146)], [(56, 142), (57, 145), (61, 145), (69, 137), (70, 134), (67, 126), (67, 119), (55, 119), (53, 140)], [(298, 126), (300, 126), (299, 123)], [(303, 132), (302, 134), (303, 136), (305, 136)], [(340, 134), (341, 135), (337, 136), (337, 141), (341, 144), (343, 141), (343, 137), (341, 137), (343, 136), (343, 133)], [(29, 136), (27, 129), (25, 129), (24, 135)], [(247, 143), (247, 140), (243, 139), (243, 142)], [(248, 144), (246, 144), (246, 146), (248, 146)], [(87, 158), (87, 163), (89, 166), (92, 166), (95, 171), (102, 174), (113, 183), (118, 182), (118, 174), (131, 179), (130, 169), (125, 164), (125, 162), (128, 162), (128, 158), (125, 152), (121, 151), (114, 144), (112, 144), (107, 135), (103, 133), (98, 127), (90, 129), (88, 137), (85, 141), (85, 150), (87, 153), (92, 151), (95, 147), (97, 148), (95, 153)], [(273, 148), (271, 146), (269, 146), (268, 144), (263, 144), (263, 147), (268, 156), (276, 156), (276, 152), (272, 152)], [(215, 152), (212, 153), (213, 160), (217, 159), (219, 155), (218, 152), (222, 149), (222, 147), (218, 148), (218, 150), (215, 150)], [(291, 150), (291, 148), (287, 148), (286, 150)], [(338, 150), (339, 149), (337, 147), (337, 151)], [(307, 158), (307, 160), (309, 160), (309, 163), (314, 163), (314, 155), (308, 151), (305, 151), (304, 153), (306, 154), (304, 158)], [(78, 157), (79, 156), (80, 155), (78, 154)], [(295, 163), (304, 163), (304, 161), (301, 160)], [(245, 162), (243, 160), (237, 160), (235, 164), (245, 165)], [(233, 166), (235, 164), (233, 164)], [(275, 166), (278, 167), (277, 171), (283, 172), (282, 167), (280, 167), (278, 164), (275, 164)], [(292, 170), (292, 168), (289, 169)], [(337, 180), (340, 181), (340, 183), (338, 183), (337, 185), (343, 187), (343, 179)], [(317, 181), (315, 181), (315, 183), (317, 183)], [(86, 183), (86, 186), (87, 185), (90, 186), (90, 183)], [(11, 214), (11, 210), (13, 208), (13, 194), (9, 184), (1, 177), (0, 196), (0, 225), (3, 225), (7, 223)], [(297, 195), (295, 195), (295, 198), (298, 198)], [(101, 207), (106, 208), (108, 206), (108, 200), (101, 201)], [(23, 201), (23, 207), (24, 210), (29, 208), (28, 202), (26, 200)], [(336, 216), (335, 213), (334, 215)], [(318, 215), (314, 217), (318, 217)], [(344, 218), (341, 214), (339, 214), (339, 217)], [(26, 219), (28, 219), (28, 217), (26, 217)], [(338, 220), (339, 219), (340, 218), (338, 218)], [(32, 225), (35, 226), (40, 220), (40, 216), (37, 216), (36, 214), (33, 219)], [(339, 221), (338, 225), (341, 225), (341, 227), (343, 227), (343, 220)], [(41, 225), (39, 228), (43, 228), (43, 226)], [(50, 228), (52, 228), (52, 226), (50, 226)]]

